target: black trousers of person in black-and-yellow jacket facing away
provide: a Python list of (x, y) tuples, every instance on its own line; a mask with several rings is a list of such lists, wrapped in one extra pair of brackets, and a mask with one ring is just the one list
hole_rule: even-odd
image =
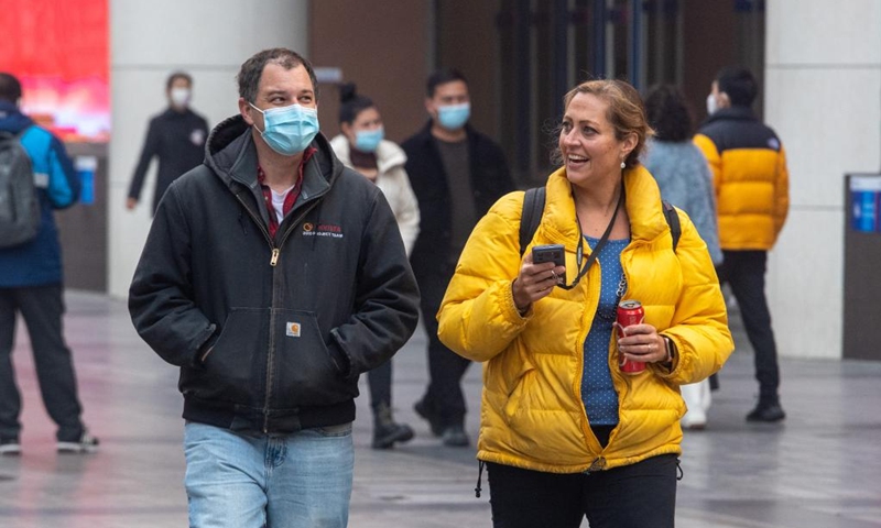
[(764, 296), (765, 251), (722, 251), (725, 262), (717, 270), (719, 282), (735, 294), (747, 337), (755, 351), (755, 380), (761, 404), (777, 402), (780, 367), (771, 312)]

